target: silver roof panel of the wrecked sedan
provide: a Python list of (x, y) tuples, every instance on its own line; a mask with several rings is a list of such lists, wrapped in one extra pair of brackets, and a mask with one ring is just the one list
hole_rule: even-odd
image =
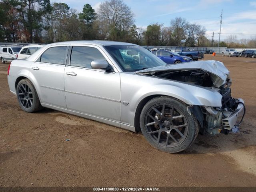
[(126, 42), (104, 41), (104, 40), (65, 41), (65, 42), (52, 43), (50, 45), (60, 45), (60, 44), (91, 44), (91, 45), (101, 45), (101, 46), (108, 46), (108, 45), (136, 45), (136, 44), (126, 43)]

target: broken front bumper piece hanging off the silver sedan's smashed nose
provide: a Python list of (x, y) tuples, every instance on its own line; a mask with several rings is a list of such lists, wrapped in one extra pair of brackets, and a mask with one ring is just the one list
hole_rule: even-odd
[[(245, 108), (244, 108), (244, 100), (238, 99), (237, 101), (238, 106), (236, 108), (236, 111), (231, 114), (230, 116), (222, 119), (222, 125), (224, 129), (231, 130), (238, 122), (238, 117), (241, 117), (244, 115)], [(242, 121), (242, 119), (241, 119)], [(241, 123), (241, 122), (240, 122)]]

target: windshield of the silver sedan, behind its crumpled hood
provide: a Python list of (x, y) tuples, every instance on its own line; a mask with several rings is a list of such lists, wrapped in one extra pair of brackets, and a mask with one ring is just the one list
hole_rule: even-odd
[(166, 65), (148, 50), (134, 45), (105, 46), (124, 72), (134, 72), (147, 68)]

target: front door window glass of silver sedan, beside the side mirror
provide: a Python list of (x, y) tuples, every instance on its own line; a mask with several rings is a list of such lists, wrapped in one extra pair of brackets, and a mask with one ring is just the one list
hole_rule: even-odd
[(70, 65), (77, 67), (92, 68), (94, 60), (106, 60), (101, 52), (94, 47), (73, 46)]

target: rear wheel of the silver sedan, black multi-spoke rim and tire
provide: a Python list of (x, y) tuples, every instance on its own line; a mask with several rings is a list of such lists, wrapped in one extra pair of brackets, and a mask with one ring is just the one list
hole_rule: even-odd
[(25, 112), (32, 113), (42, 109), (36, 89), (30, 80), (20, 80), (16, 94), (18, 103)]

